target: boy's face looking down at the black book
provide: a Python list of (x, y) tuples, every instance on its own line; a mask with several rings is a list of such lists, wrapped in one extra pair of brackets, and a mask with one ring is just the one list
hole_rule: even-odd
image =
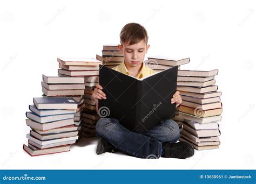
[(137, 44), (128, 44), (129, 43), (124, 43), (122, 46), (118, 45), (120, 52), (124, 54), (125, 64), (130, 67), (141, 66), (150, 45), (146, 45), (144, 40)]

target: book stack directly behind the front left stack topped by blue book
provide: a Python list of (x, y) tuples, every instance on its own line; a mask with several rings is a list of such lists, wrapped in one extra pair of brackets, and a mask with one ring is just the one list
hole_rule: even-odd
[(79, 135), (82, 129), (82, 112), (84, 104), (84, 77), (70, 77), (65, 75), (50, 76), (43, 75), (42, 91), (46, 97), (72, 97), (77, 103), (78, 108), (74, 116), (75, 125), (78, 126)]

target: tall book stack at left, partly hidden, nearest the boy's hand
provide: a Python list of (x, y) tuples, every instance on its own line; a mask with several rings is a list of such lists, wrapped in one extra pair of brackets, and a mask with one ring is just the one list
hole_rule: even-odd
[(79, 111), (79, 118), (76, 120), (83, 122), (80, 136), (95, 136), (95, 124), (92, 123), (94, 126), (88, 126), (88, 124), (84, 123), (83, 112), (96, 113), (96, 103), (92, 99), (92, 94), (96, 84), (99, 82), (99, 65), (102, 65), (102, 61), (88, 58), (58, 58), (58, 62), (60, 67), (60, 69), (58, 69), (59, 74), (84, 78), (84, 108)]

